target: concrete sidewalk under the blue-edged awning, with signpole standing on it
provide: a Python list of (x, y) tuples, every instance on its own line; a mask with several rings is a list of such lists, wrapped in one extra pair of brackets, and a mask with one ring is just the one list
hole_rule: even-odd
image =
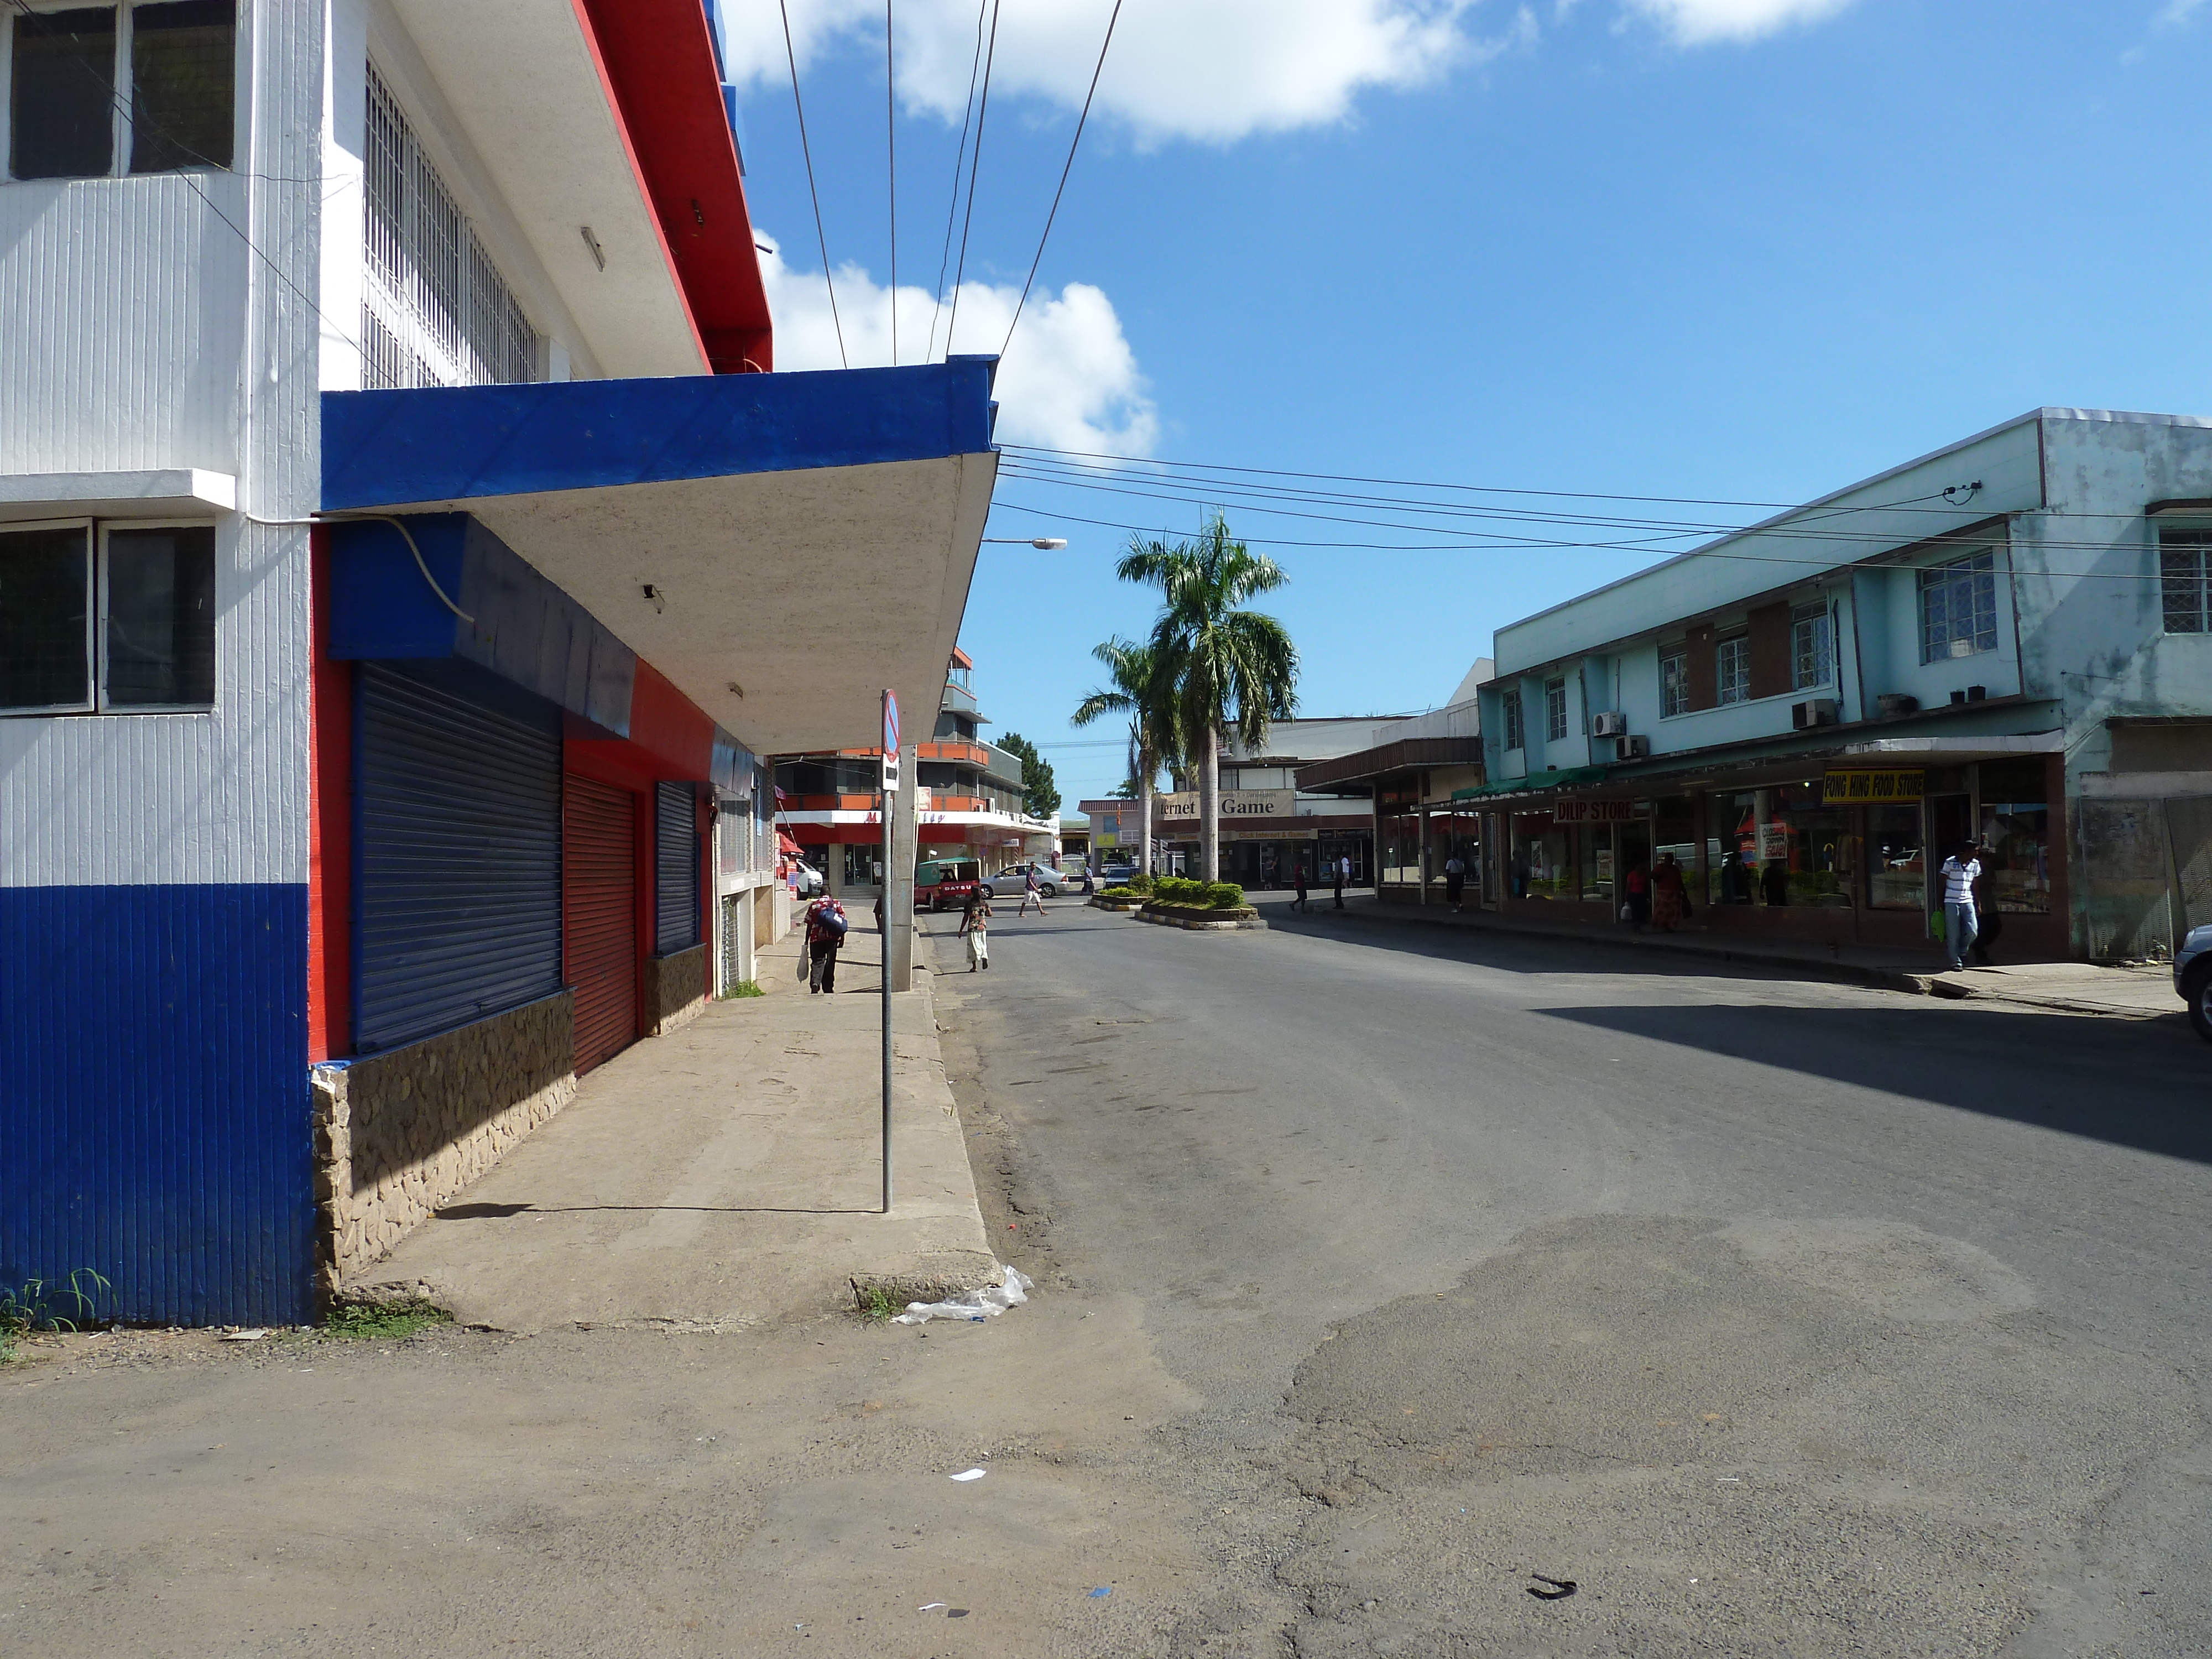
[(347, 1285), (467, 1325), (723, 1329), (852, 1305), (852, 1281), (951, 1290), (995, 1272), (927, 971), (891, 1000), (894, 1206), (878, 1212), (880, 938), (836, 995), (761, 951), (772, 995), (714, 1002), (575, 1102)]

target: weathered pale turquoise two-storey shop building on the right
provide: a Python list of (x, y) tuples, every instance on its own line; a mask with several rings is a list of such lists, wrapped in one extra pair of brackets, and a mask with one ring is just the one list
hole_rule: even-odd
[(1982, 847), (2002, 953), (2212, 920), (2212, 420), (2037, 409), (1498, 630), (1484, 902), (1929, 947)]

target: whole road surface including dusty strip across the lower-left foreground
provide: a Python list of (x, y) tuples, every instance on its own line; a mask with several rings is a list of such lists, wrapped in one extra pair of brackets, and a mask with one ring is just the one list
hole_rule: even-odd
[(0, 1655), (2212, 1652), (2179, 1018), (1011, 909), (931, 949), (1026, 1307), (80, 1343)]

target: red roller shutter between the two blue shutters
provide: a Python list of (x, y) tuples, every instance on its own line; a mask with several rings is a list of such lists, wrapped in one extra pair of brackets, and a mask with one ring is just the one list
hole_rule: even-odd
[(562, 942), (586, 1073), (637, 1042), (637, 796), (575, 772), (562, 792)]

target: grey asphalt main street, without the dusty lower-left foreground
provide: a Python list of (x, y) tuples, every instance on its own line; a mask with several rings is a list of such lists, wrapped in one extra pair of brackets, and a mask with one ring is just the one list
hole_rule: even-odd
[(2179, 1013), (1327, 914), (993, 962), (942, 1002), (1018, 1259), (1197, 1396), (1221, 1599), (1164, 1652), (2212, 1652)]

